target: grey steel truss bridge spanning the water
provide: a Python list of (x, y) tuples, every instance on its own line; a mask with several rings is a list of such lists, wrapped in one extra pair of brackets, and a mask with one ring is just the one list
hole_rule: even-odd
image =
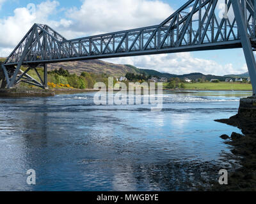
[[(223, 18), (218, 3), (226, 4)], [(1, 64), (1, 88), (20, 82), (47, 88), (48, 63), (227, 48), (243, 48), (255, 96), (256, 0), (189, 0), (159, 25), (74, 40), (34, 24)], [(44, 66), (44, 77), (38, 66)], [(30, 69), (40, 82), (28, 75)]]

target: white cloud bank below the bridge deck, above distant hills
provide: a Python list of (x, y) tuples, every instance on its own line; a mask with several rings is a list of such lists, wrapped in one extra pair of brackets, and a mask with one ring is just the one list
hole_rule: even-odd
[(105, 59), (104, 61), (116, 64), (131, 64), (141, 69), (154, 69), (156, 71), (186, 74), (200, 72), (213, 75), (239, 74), (247, 71), (246, 65), (236, 69), (232, 64), (218, 64), (216, 61), (193, 57), (189, 52), (179, 54), (145, 55), (138, 57), (121, 57)]

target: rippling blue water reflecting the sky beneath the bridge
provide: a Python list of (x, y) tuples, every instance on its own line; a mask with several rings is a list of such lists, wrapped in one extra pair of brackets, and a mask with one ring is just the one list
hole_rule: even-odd
[(241, 131), (214, 119), (252, 92), (164, 92), (162, 112), (94, 94), (0, 99), (0, 191), (192, 190), (228, 168), (220, 135)]

